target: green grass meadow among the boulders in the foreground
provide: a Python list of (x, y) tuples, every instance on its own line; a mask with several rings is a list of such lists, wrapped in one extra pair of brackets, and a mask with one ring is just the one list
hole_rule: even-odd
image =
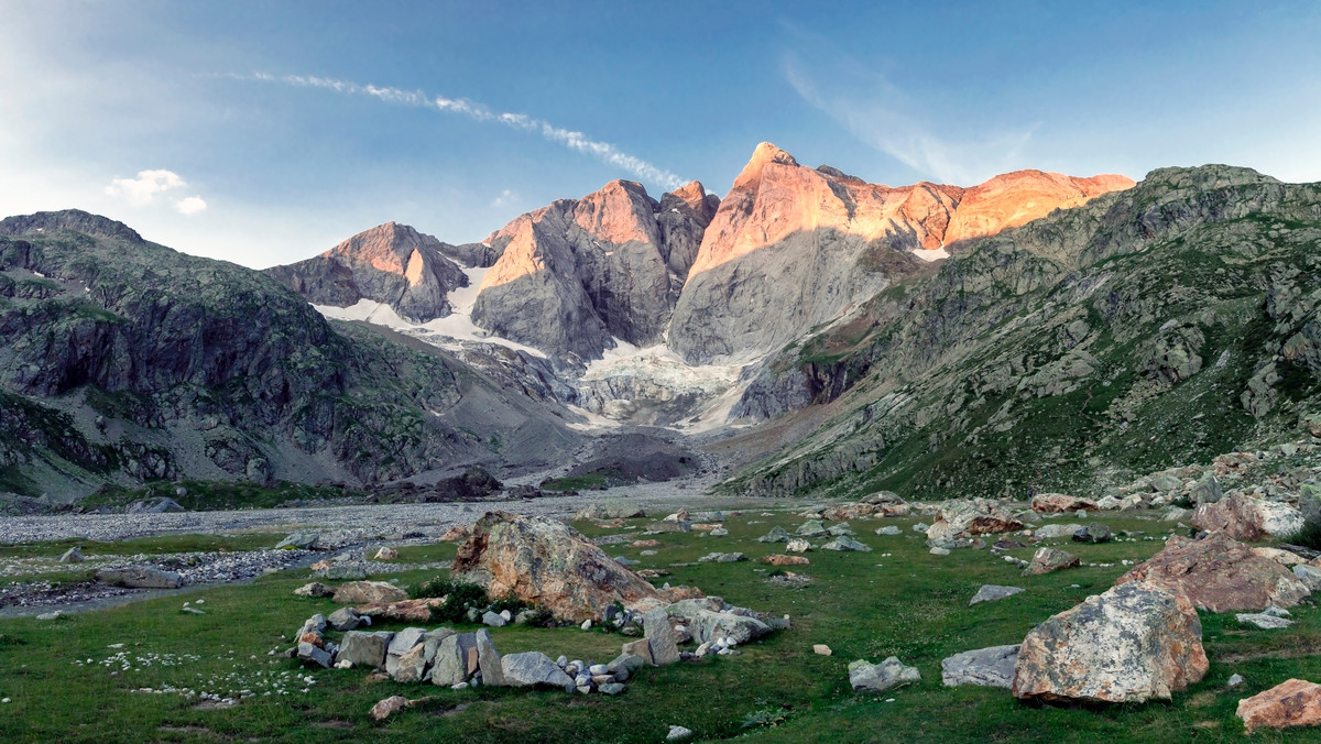
[[(565, 695), (559, 691), (481, 688), (450, 691), (432, 686), (373, 682), (363, 670), (301, 670), (281, 657), (287, 638), (314, 612), (329, 613), (325, 599), (292, 595), (305, 572), (266, 576), (189, 595), (205, 599), (207, 614), (178, 611), (178, 599), (67, 616), (54, 622), (0, 621), (0, 696), (13, 702), (0, 716), (5, 741), (660, 741), (670, 724), (696, 732), (696, 740), (744, 737), (752, 741), (1239, 741), (1246, 740), (1234, 718), (1239, 698), (1289, 677), (1321, 678), (1321, 657), (1297, 655), (1321, 650), (1321, 614), (1314, 607), (1296, 608), (1299, 621), (1276, 632), (1244, 630), (1231, 614), (1203, 614), (1205, 646), (1211, 658), (1207, 678), (1172, 702), (1100, 710), (1034, 708), (1017, 703), (1005, 690), (941, 686), (941, 659), (970, 649), (1017, 642), (1037, 622), (1110, 587), (1127, 568), (1120, 559), (1144, 559), (1160, 539), (1099, 546), (1066, 543), (1083, 567), (1046, 576), (1022, 577), (988, 551), (962, 550), (933, 556), (922, 535), (909, 526), (917, 519), (855, 521), (857, 538), (872, 546), (867, 554), (812, 551), (811, 566), (790, 567), (814, 577), (802, 588), (766, 581), (771, 567), (756, 562), (695, 563), (711, 551), (744, 551), (750, 558), (779, 552), (783, 544), (756, 538), (771, 526), (793, 531), (801, 518), (753, 509), (727, 522), (727, 538), (697, 533), (657, 535), (654, 548), (612, 544), (610, 555), (626, 555), (639, 567), (672, 572), (660, 580), (696, 584), (744, 607), (790, 614), (793, 629), (742, 648), (736, 657), (709, 658), (664, 669), (647, 669), (620, 698)], [(1135, 517), (1103, 518), (1116, 531), (1144, 530), (1164, 537), (1169, 523)], [(625, 529), (577, 525), (588, 534), (629, 533)], [(898, 537), (875, 535), (880, 525), (898, 525)], [(161, 538), (165, 539), (165, 538)], [(177, 550), (184, 538), (160, 547)], [(199, 538), (194, 538), (199, 539)], [(235, 538), (238, 539), (238, 538)], [(242, 538), (248, 539), (248, 538)], [(1062, 542), (1062, 540), (1059, 540)], [(44, 548), (52, 554), (58, 546)], [(139, 543), (136, 547), (147, 547)], [(657, 555), (643, 556), (642, 550)], [(1026, 555), (1032, 548), (1015, 551)], [(453, 546), (400, 550), (400, 562), (444, 560)], [(890, 552), (888, 558), (882, 554)], [(678, 566), (676, 566), (678, 564)], [(444, 575), (444, 574), (441, 574)], [(416, 585), (435, 571), (383, 576)], [(1026, 591), (1007, 600), (967, 607), (984, 583), (1013, 584)], [(398, 629), (396, 626), (387, 626)], [(608, 661), (627, 638), (593, 629), (493, 629), (501, 653), (542, 650), (552, 657)], [(186, 661), (178, 666), (133, 665), (112, 677), (99, 662), (119, 653), (157, 654)], [(827, 644), (834, 655), (820, 657), (812, 644)], [(898, 655), (915, 665), (922, 682), (881, 695), (853, 692), (845, 667), (856, 658), (880, 661)], [(196, 657), (196, 658), (193, 658)], [(1284, 657), (1284, 658), (1280, 658)], [(86, 659), (92, 659), (89, 665)], [(79, 665), (78, 662), (82, 661)], [(259, 674), (260, 673), (260, 674)], [(272, 675), (310, 674), (316, 683), (287, 685), (289, 695), (262, 695)], [(1246, 688), (1226, 691), (1230, 674), (1247, 678)], [(232, 677), (229, 677), (232, 675)], [(52, 685), (58, 681), (58, 685)], [(256, 698), (231, 710), (198, 710), (178, 695), (131, 692), (162, 685), (205, 687), (229, 692), (251, 688)], [(235, 687), (234, 690), (227, 688)], [(402, 694), (429, 700), (375, 723), (369, 708)], [(886, 702), (893, 699), (893, 702)], [(745, 728), (745, 723), (753, 725)], [(1259, 732), (1254, 741), (1321, 741), (1321, 729), (1287, 735)]]

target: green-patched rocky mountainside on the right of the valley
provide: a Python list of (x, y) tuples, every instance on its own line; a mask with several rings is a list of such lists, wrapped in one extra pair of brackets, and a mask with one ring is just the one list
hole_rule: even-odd
[(1321, 186), (1227, 167), (972, 241), (765, 362), (736, 411), (795, 433), (732, 485), (1099, 493), (1292, 436), (1321, 411), (1318, 244)]

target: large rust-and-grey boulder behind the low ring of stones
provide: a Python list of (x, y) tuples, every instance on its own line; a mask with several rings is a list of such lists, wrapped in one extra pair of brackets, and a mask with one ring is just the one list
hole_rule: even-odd
[(458, 546), (450, 576), (517, 597), (556, 620), (601, 620), (608, 607), (659, 599), (646, 579), (620, 566), (581, 533), (546, 517), (487, 513)]

